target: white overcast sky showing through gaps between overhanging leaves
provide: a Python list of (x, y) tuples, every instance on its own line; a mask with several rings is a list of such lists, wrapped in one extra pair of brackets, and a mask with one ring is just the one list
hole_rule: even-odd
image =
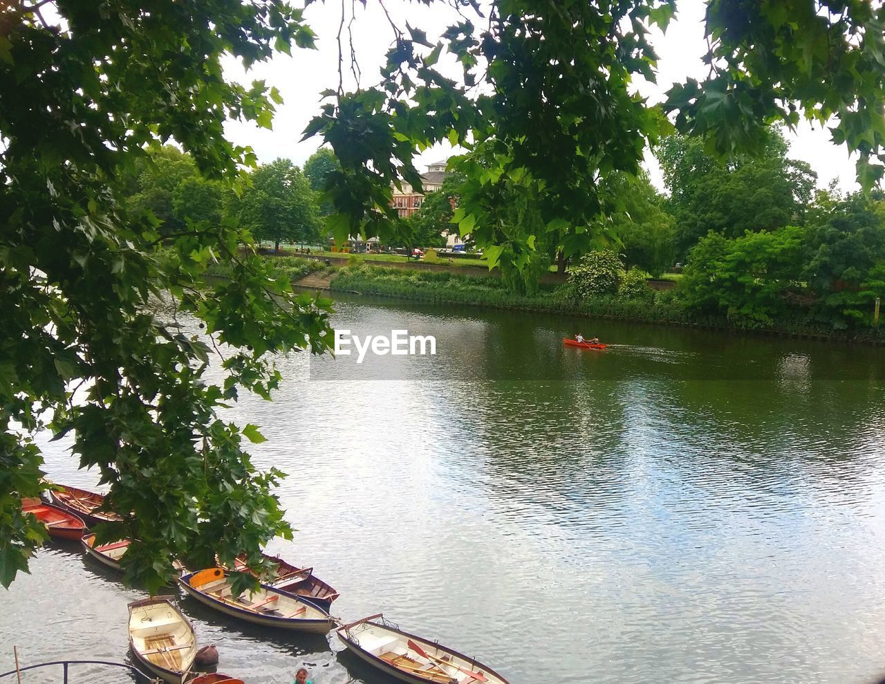
[[(342, 6), (345, 19), (342, 25)], [(428, 38), (435, 37), (443, 29), (457, 20), (455, 12), (443, 3), (425, 6), (408, 0), (386, 0), (390, 16), (403, 27), (408, 22), (412, 27), (427, 31)], [(703, 0), (681, 0), (675, 19), (667, 27), (666, 34), (654, 30), (651, 41), (658, 52), (658, 83), (637, 82), (637, 88), (651, 103), (664, 98), (664, 93), (674, 82), (682, 82), (688, 77), (702, 79), (706, 73), (701, 57), (704, 54), (704, 2)], [(353, 20), (351, 21), (351, 17)], [(338, 84), (338, 44), (339, 27), (342, 28), (343, 85), (345, 90), (353, 89), (356, 79), (350, 72), (350, 40), (353, 36), (357, 62), (361, 71), (360, 83), (365, 86), (380, 81), (378, 69), (384, 61), (384, 54), (393, 41), (393, 29), (381, 5), (369, 0), (366, 8), (358, 0), (342, 0), (342, 4), (315, 2), (304, 12), (307, 24), (318, 35), (317, 50), (293, 49), (293, 56), (277, 54), (272, 60), (256, 65), (248, 73), (233, 59), (227, 59), (225, 73), (236, 81), (247, 82), (264, 79), (276, 86), (283, 96), (283, 104), (278, 106), (273, 119), (273, 130), (259, 129), (243, 122), (227, 124), (228, 137), (238, 144), (250, 145), (260, 162), (270, 162), (275, 158), (292, 159), (296, 164), (304, 161), (319, 146), (319, 137), (300, 142), (302, 131), (321, 104), (319, 92), (335, 88)], [(460, 73), (450, 60), (441, 59), (440, 68), (448, 68), (452, 76)], [(829, 142), (826, 127), (812, 128), (806, 122), (800, 124), (796, 133), (786, 132), (790, 142), (789, 156), (808, 162), (818, 174), (818, 186), (825, 188), (830, 181), (838, 179), (843, 190), (858, 188), (855, 181), (854, 161), (848, 151)], [(443, 160), (452, 154), (448, 145), (437, 145), (418, 156), (419, 168)], [(653, 155), (646, 154), (646, 167), (651, 180), (663, 189), (663, 181)]]

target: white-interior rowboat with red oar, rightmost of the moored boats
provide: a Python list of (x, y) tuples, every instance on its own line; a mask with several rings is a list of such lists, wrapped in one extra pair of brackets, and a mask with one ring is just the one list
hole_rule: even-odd
[(352, 653), (397, 680), (411, 684), (508, 684), (473, 658), (390, 625), (381, 613), (342, 626), (336, 634)]

